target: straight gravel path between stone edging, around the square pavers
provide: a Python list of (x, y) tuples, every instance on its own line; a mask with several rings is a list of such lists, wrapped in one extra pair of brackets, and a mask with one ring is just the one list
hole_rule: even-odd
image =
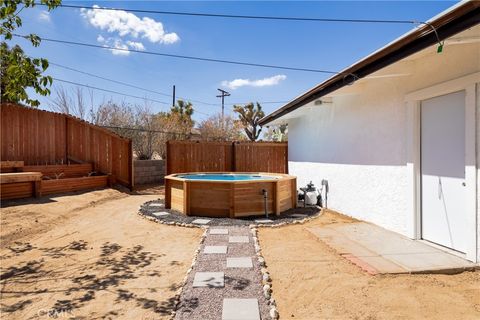
[[(211, 229), (215, 228), (208, 228), (197, 261), (188, 275), (175, 319), (221, 319), (225, 298), (258, 299), (261, 319), (269, 319), (270, 308), (263, 294), (261, 266), (249, 227), (225, 227), (224, 229), (228, 229), (228, 235), (210, 234)], [(229, 243), (230, 236), (247, 236), (249, 242)], [(227, 246), (227, 254), (205, 254), (205, 246)], [(227, 268), (227, 257), (251, 257), (253, 268)], [(225, 273), (224, 287), (193, 287), (197, 272), (219, 271)]]

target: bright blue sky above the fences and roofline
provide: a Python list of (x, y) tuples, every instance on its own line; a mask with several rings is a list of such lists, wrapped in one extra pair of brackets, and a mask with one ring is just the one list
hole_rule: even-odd
[[(455, 2), (64, 1), (64, 3), (238, 15), (425, 21)], [(23, 34), (35, 32), (41, 37), (92, 44), (117, 43), (171, 54), (333, 71), (340, 71), (414, 27), (408, 24), (283, 22), (143, 13), (135, 14), (138, 19), (127, 15), (129, 22), (124, 23), (119, 22), (118, 16), (114, 13), (98, 15), (98, 10), (82, 13), (80, 9), (57, 8), (48, 15), (43, 11), (43, 7), (36, 7), (22, 12), (24, 26), (18, 32)], [(145, 22), (144, 17), (154, 21)], [(24, 40), (16, 41), (29, 55), (45, 57), (54, 63), (149, 90), (168, 94), (175, 84), (177, 96), (215, 104), (194, 103), (198, 111), (195, 114), (197, 121), (207, 118), (208, 114), (220, 112), (220, 99), (215, 97), (218, 94), (217, 88), (223, 88), (231, 93), (226, 99), (226, 112), (230, 113), (232, 103), (288, 101), (329, 76), (138, 53), (114, 54), (105, 49), (49, 42), (43, 42), (40, 47), (33, 48)], [(56, 66), (51, 66), (47, 73), (56, 78), (166, 103), (152, 103), (154, 112), (168, 110), (171, 104), (171, 98), (167, 96), (124, 87)], [(232, 83), (235, 79), (243, 80)], [(247, 79), (250, 81), (246, 81)], [(72, 88), (67, 84), (62, 86), (66, 89)], [(53, 97), (54, 94), (51, 98)], [(94, 92), (95, 104), (110, 98), (143, 104), (141, 100), (134, 98)], [(40, 101), (42, 108), (48, 109), (49, 98), (40, 98)], [(263, 104), (263, 108), (269, 113), (281, 105), (281, 103)]]

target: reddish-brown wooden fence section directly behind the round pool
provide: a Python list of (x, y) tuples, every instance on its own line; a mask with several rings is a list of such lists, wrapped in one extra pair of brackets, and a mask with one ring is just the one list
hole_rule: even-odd
[(288, 173), (288, 144), (168, 141), (166, 171)]

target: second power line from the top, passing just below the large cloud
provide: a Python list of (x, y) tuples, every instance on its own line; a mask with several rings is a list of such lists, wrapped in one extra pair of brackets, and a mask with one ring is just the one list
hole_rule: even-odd
[[(12, 34), (12, 35), (15, 36), (15, 37), (20, 37), (20, 38), (28, 39), (28, 36), (25, 36), (25, 35), (20, 35), (20, 34)], [(71, 44), (71, 45), (76, 45), (76, 46), (84, 46), (84, 47), (99, 48), (99, 49), (108, 49), (108, 50), (135, 52), (135, 53), (142, 53), (142, 54), (162, 56), (162, 57), (169, 57), (169, 58), (179, 58), (179, 59), (187, 59), (187, 60), (207, 61), (207, 62), (216, 62), (216, 63), (243, 65), (243, 66), (250, 66), (250, 67), (260, 67), (260, 68), (271, 68), (271, 69), (291, 70), (291, 71), (304, 71), (304, 72), (328, 73), (328, 74), (342, 74), (341, 72), (337, 72), (337, 71), (328, 71), (328, 70), (319, 70), (319, 69), (309, 69), (309, 68), (297, 68), (297, 67), (287, 67), (287, 66), (261, 64), (261, 63), (252, 63), (252, 62), (241, 62), (241, 61), (233, 61), (233, 60), (223, 60), (223, 59), (213, 59), (213, 58), (202, 58), (202, 57), (196, 57), (196, 56), (185, 56), (185, 55), (177, 55), (177, 54), (169, 54), (169, 53), (161, 53), (161, 52), (153, 52), (153, 51), (141, 51), (141, 50), (136, 50), (136, 49), (115, 48), (115, 47), (110, 47), (110, 46), (106, 46), (106, 45), (98, 45), (98, 44), (92, 44), (92, 43), (75, 42), (75, 41), (68, 41), (68, 40), (43, 38), (43, 37), (40, 37), (40, 39), (41, 39), (42, 41), (47, 41), (47, 42), (55, 42), (55, 43), (62, 43), (62, 44)]]

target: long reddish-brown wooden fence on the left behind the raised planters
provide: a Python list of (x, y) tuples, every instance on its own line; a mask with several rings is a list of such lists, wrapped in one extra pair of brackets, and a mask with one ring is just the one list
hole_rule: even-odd
[(1, 105), (1, 160), (25, 166), (92, 163), (93, 170), (133, 187), (132, 142), (70, 115)]

